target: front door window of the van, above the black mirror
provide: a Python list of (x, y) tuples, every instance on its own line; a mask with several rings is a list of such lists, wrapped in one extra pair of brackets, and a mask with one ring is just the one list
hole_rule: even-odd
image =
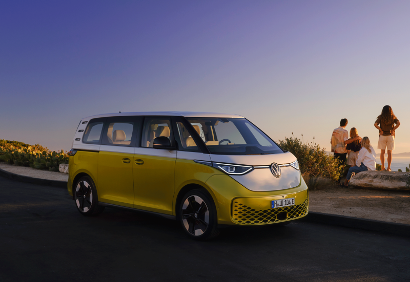
[(172, 128), (169, 118), (146, 118), (144, 121), (144, 129), (142, 129), (141, 147), (152, 148), (154, 139), (160, 136), (165, 136), (172, 142)]

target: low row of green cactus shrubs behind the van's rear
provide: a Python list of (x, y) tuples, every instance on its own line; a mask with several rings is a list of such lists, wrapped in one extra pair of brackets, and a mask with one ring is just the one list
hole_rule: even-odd
[[(68, 155), (64, 150), (56, 153), (42, 145), (20, 146), (22, 142), (0, 140), (0, 161), (18, 166), (30, 166), (36, 169), (48, 169), (58, 171), (58, 166), (68, 163)], [(22, 143), (24, 144), (24, 143)]]

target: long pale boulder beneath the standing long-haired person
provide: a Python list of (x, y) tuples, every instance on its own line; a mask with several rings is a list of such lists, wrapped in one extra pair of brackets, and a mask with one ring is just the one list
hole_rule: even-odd
[(363, 171), (350, 180), (350, 186), (367, 189), (410, 190), (406, 188), (408, 172)]

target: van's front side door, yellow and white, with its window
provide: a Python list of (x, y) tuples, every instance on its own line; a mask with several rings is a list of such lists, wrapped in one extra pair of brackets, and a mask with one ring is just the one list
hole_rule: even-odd
[(134, 208), (172, 214), (176, 150), (154, 149), (154, 139), (161, 136), (174, 144), (170, 118), (145, 118), (141, 147), (133, 157)]

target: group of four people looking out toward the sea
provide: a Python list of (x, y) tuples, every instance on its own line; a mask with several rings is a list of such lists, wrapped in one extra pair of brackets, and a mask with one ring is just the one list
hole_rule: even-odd
[[(392, 107), (386, 105), (381, 114), (377, 117), (375, 127), (379, 129), (379, 142), (377, 148), (380, 149), (381, 170), (392, 171), (392, 150), (394, 150), (394, 138), (400, 121), (394, 115)], [(347, 119), (340, 120), (340, 126), (332, 133), (332, 152), (334, 158), (339, 163), (350, 165), (347, 176), (341, 182), (341, 186), (347, 187), (353, 173), (365, 170), (376, 170), (376, 152), (370, 144), (368, 137), (361, 138), (355, 127), (350, 129), (350, 134), (346, 131)], [(350, 137), (350, 138), (349, 138)], [(384, 168), (384, 154), (387, 148), (387, 168)], [(347, 157), (347, 161), (346, 161)]]

